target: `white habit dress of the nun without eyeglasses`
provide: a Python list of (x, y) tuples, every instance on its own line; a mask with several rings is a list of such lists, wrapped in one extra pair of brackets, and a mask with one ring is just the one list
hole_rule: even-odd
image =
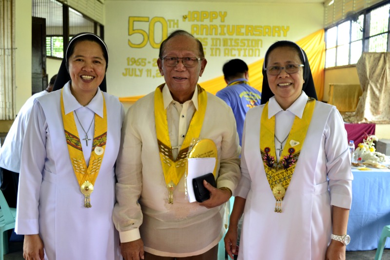
[[(18, 194), (17, 234), (39, 234), (45, 259), (120, 260), (119, 236), (112, 221), (115, 205), (114, 165), (119, 151), (124, 109), (117, 97), (98, 89), (86, 106), (78, 103), (63, 87), (65, 114), (77, 112), (81, 125), (88, 129), (95, 114), (103, 117), (103, 96), (107, 111), (107, 142), (98, 177), (91, 194), (91, 208), (84, 195), (69, 156), (61, 116), (61, 90), (36, 100), (22, 148)], [(92, 140), (86, 145), (80, 122), (75, 124), (86, 164)], [(93, 139), (94, 123), (88, 132)], [(73, 134), (73, 133), (72, 133)]]

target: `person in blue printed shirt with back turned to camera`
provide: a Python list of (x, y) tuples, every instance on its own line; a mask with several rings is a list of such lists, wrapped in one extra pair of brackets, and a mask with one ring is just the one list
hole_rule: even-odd
[(250, 108), (260, 104), (261, 93), (249, 85), (248, 65), (245, 61), (229, 60), (223, 65), (222, 71), (228, 85), (219, 90), (216, 96), (232, 108), (241, 145), (245, 115)]

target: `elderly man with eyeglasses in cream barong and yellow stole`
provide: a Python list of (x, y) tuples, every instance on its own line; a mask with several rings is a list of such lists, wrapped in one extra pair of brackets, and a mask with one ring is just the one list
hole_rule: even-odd
[[(125, 260), (217, 258), (225, 202), (240, 179), (240, 146), (232, 109), (197, 84), (206, 63), (201, 42), (174, 31), (157, 60), (165, 83), (127, 113), (114, 208)], [(193, 139), (212, 140), (217, 153), (217, 187), (203, 181), (210, 199), (201, 203), (189, 202), (185, 192)]]

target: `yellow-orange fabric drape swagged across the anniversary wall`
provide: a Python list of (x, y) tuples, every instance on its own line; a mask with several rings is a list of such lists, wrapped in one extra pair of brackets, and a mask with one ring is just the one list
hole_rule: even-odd
[[(318, 30), (305, 38), (296, 41), (296, 43), (306, 52), (312, 75), (314, 80), (315, 91), (318, 100), (322, 100), (324, 96), (324, 67), (325, 67), (325, 30)], [(255, 61), (248, 65), (249, 68), (249, 84), (261, 92), (263, 85), (263, 67), (264, 58)], [(222, 67), (222, 64), (221, 64)], [(212, 80), (207, 80), (199, 83), (202, 88), (212, 94), (226, 86), (223, 75)], [(119, 101), (137, 101), (142, 96), (119, 98)]]

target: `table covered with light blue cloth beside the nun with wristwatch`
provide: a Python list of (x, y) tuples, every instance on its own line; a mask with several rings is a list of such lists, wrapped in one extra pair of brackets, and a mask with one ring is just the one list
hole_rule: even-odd
[[(351, 243), (347, 251), (372, 250), (382, 228), (390, 225), (390, 170), (352, 168), (352, 205), (348, 220)], [(390, 248), (390, 239), (386, 248)]]

